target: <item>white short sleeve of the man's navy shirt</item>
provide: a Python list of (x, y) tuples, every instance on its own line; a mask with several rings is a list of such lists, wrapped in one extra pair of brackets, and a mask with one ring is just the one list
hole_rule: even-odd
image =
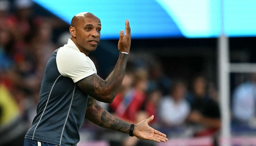
[(77, 82), (95, 73), (93, 65), (85, 54), (75, 51), (59, 50), (56, 55), (57, 68), (61, 75)]

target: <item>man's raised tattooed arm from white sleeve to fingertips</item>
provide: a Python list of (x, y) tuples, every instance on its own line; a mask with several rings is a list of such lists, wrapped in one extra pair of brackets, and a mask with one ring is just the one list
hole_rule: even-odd
[[(131, 46), (131, 28), (129, 21), (125, 22), (125, 35), (124, 31), (120, 32), (120, 39), (118, 41), (118, 50), (120, 52), (129, 53)], [(105, 103), (112, 103), (114, 97), (121, 87), (124, 78), (125, 68), (128, 60), (128, 55), (121, 53), (114, 70), (106, 78), (102, 80), (97, 74), (83, 78), (76, 84), (86, 94), (94, 97), (98, 101)]]

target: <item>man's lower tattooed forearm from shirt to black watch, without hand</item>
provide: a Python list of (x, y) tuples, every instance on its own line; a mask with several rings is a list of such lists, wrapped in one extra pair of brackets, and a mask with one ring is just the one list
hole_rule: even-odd
[[(91, 99), (93, 98), (91, 97)], [(124, 133), (129, 133), (130, 131), (131, 124), (109, 114), (109, 112), (104, 110), (96, 103), (95, 99), (91, 100), (91, 103), (88, 102), (87, 104), (86, 118), (103, 128)]]

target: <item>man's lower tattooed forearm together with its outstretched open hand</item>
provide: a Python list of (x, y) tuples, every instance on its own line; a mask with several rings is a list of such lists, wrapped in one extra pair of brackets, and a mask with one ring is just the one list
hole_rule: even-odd
[[(106, 110), (100, 107), (96, 100), (89, 97), (86, 110), (86, 118), (91, 122), (103, 127), (120, 132), (129, 134), (131, 124), (123, 120), (120, 120), (113, 115), (109, 114)], [(168, 139), (166, 135), (154, 130), (152, 127), (148, 126), (148, 123), (152, 121), (154, 116), (143, 120), (139, 124), (135, 124), (133, 135), (139, 139), (151, 140), (156, 142), (166, 142)]]

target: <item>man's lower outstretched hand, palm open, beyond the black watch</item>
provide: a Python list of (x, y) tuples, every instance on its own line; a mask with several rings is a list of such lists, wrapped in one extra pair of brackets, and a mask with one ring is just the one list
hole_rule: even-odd
[(151, 122), (153, 119), (154, 116), (152, 115), (150, 118), (143, 120), (139, 124), (136, 124), (134, 126), (133, 135), (139, 139), (144, 140), (151, 140), (156, 142), (168, 141), (165, 134), (148, 126), (148, 123)]

